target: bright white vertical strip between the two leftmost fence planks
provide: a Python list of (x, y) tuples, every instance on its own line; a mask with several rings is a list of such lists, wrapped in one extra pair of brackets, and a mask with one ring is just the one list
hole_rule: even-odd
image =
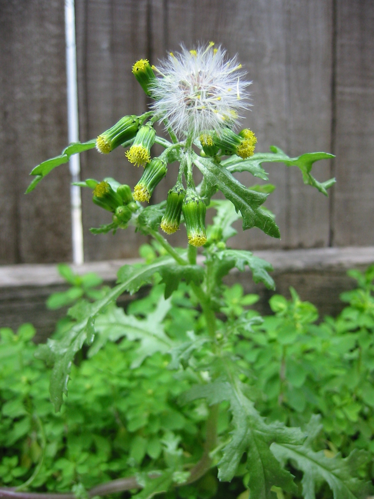
[[(67, 122), (69, 143), (79, 140), (77, 56), (75, 45), (74, 0), (65, 0), (65, 39), (66, 39), (66, 81), (67, 81)], [(71, 181), (80, 181), (79, 154), (74, 154), (69, 162)], [(83, 227), (80, 187), (70, 186), (71, 232), (73, 262), (83, 263)]]

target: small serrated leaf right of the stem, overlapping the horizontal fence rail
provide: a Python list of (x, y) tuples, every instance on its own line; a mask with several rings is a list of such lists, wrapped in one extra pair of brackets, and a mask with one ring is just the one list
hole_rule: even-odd
[[(241, 271), (245, 270), (248, 265), (252, 271), (254, 282), (262, 282), (268, 289), (275, 289), (275, 282), (268, 274), (273, 270), (271, 263), (258, 256), (255, 256), (251, 251), (246, 250), (222, 250), (215, 254), (217, 260), (222, 264), (222, 269), (216, 269), (217, 277), (225, 275), (231, 268), (236, 267)], [(225, 273), (223, 273), (225, 272)]]

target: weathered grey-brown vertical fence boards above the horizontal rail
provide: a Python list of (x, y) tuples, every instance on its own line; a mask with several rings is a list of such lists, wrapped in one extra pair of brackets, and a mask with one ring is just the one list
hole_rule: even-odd
[[(167, 50), (214, 40), (238, 53), (253, 108), (244, 124), (257, 151), (326, 151), (314, 167), (337, 177), (328, 198), (304, 186), (299, 171), (268, 165), (277, 185), (267, 205), (282, 239), (257, 229), (237, 248), (374, 245), (374, 2), (372, 0), (76, 0), (80, 139), (88, 140), (146, 98), (131, 65)], [(57, 168), (31, 194), (28, 173), (67, 143), (63, 0), (0, 0), (0, 263), (71, 258), (69, 171)], [(82, 178), (113, 176), (134, 185), (140, 171), (122, 148), (81, 156)], [(153, 202), (174, 184), (172, 168)], [(249, 185), (253, 179), (238, 178)], [(86, 260), (136, 256), (144, 237), (93, 236), (110, 215), (83, 190)], [(185, 241), (184, 231), (173, 236)]]

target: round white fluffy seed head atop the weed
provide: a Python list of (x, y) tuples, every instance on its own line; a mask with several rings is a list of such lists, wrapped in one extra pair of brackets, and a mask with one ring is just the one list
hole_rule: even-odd
[(250, 81), (236, 57), (227, 59), (220, 46), (199, 46), (179, 53), (155, 68), (159, 77), (152, 88), (152, 109), (165, 118), (179, 136), (200, 135), (204, 130), (219, 131), (235, 125), (247, 109)]

